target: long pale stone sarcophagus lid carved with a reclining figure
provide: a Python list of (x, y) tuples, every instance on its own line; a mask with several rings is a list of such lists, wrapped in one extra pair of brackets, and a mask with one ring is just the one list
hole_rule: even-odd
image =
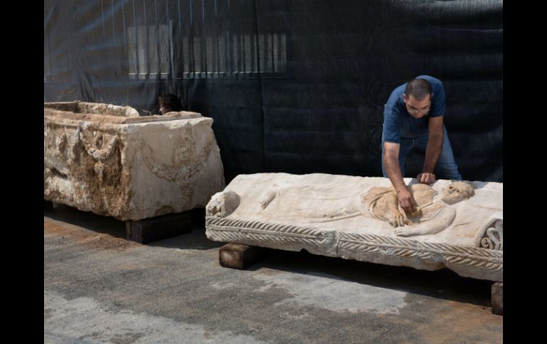
[(207, 238), (503, 282), (503, 184), (405, 182), (411, 213), (387, 178), (241, 174), (207, 204)]

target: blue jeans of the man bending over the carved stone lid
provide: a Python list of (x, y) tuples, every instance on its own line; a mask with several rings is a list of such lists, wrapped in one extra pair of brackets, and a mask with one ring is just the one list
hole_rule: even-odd
[[(462, 175), (457, 170), (457, 164), (454, 160), (454, 154), (452, 152), (452, 147), (450, 146), (450, 141), (448, 140), (448, 133), (446, 128), (443, 126), (443, 147), (440, 148), (440, 155), (437, 160), (437, 165), (435, 165), (435, 177), (437, 179), (452, 179), (452, 180), (462, 180)], [(401, 148), (399, 149), (399, 166), (401, 166), (401, 173), (405, 177), (404, 170), (404, 159), (406, 153), (408, 153), (412, 148), (418, 147), (426, 150), (428, 145), (428, 135), (419, 136), (417, 138), (401, 138)], [(381, 137), (381, 172), (384, 174), (384, 177), (387, 177), (386, 167), (384, 166), (384, 136)], [(416, 176), (412, 176), (416, 178)]]

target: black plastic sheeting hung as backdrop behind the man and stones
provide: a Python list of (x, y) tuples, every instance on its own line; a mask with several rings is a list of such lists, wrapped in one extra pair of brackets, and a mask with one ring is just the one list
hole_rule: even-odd
[[(445, 87), (464, 179), (503, 182), (502, 1), (44, 1), (44, 101), (214, 118), (227, 181), (381, 176), (383, 106), (420, 74)], [(425, 152), (407, 157), (407, 176)]]

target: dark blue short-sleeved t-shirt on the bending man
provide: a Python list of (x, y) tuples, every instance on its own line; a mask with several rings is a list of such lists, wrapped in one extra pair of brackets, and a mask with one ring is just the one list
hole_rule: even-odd
[(416, 138), (418, 136), (428, 135), (429, 118), (443, 116), (445, 113), (446, 99), (443, 83), (439, 79), (420, 75), (416, 79), (425, 79), (431, 84), (431, 109), (426, 116), (414, 118), (406, 111), (403, 100), (406, 84), (394, 89), (385, 105), (384, 109), (384, 132), (382, 133), (384, 141), (392, 143), (401, 143), (401, 138)]

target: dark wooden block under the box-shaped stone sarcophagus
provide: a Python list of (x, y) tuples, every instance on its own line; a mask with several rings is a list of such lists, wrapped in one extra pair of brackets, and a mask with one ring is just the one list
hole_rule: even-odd
[(146, 244), (192, 231), (192, 218), (189, 211), (170, 213), (139, 221), (126, 221), (125, 228), (127, 240)]

